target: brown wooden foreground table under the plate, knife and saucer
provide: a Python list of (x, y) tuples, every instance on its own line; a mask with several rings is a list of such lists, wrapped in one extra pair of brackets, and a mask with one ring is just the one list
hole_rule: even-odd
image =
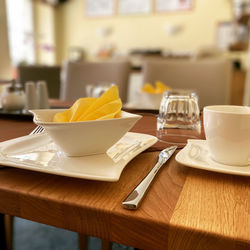
[[(0, 141), (34, 127), (0, 119)], [(141, 249), (250, 249), (248, 177), (191, 169), (172, 157), (140, 209), (122, 208), (158, 154), (138, 155), (115, 183), (0, 169), (0, 213)]]

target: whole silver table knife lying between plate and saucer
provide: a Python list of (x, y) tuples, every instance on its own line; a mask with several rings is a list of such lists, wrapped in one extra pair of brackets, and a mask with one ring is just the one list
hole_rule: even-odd
[(152, 183), (154, 177), (161, 169), (163, 164), (166, 163), (167, 160), (172, 156), (176, 149), (177, 146), (171, 146), (160, 152), (158, 162), (155, 164), (155, 166), (122, 202), (124, 208), (136, 210), (140, 206), (142, 199), (147, 193), (148, 188)]

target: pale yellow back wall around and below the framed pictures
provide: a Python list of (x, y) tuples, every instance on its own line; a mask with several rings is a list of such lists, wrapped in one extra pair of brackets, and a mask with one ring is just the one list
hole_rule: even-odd
[[(232, 20), (232, 8), (229, 0), (194, 0), (191, 11), (91, 18), (85, 14), (84, 0), (70, 0), (56, 8), (56, 16), (61, 61), (71, 46), (80, 46), (93, 56), (105, 42), (114, 44), (118, 52), (138, 47), (193, 51), (215, 45), (217, 24)], [(181, 25), (183, 30), (170, 36), (164, 30), (168, 24)], [(97, 35), (102, 27), (113, 31), (105, 40)]]

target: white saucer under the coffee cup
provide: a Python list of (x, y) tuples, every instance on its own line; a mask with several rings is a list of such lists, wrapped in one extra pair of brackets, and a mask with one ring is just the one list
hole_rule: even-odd
[(188, 144), (176, 155), (175, 159), (177, 162), (192, 168), (250, 176), (250, 165), (229, 166), (212, 160), (205, 140), (188, 140)]

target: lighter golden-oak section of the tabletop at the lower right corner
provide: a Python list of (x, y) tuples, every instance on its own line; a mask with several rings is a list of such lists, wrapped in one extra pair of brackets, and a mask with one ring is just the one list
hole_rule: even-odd
[[(192, 169), (170, 220), (169, 248), (249, 249), (248, 177)], [(209, 233), (208, 233), (209, 232)]]

